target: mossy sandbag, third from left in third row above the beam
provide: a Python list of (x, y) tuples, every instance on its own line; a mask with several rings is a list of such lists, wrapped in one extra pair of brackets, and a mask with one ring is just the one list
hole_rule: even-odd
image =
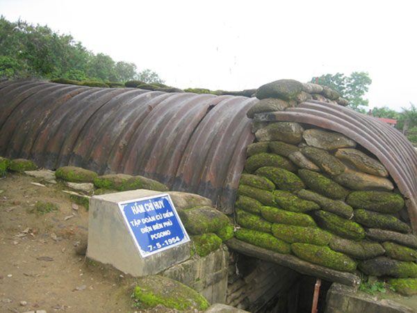
[(354, 223), (345, 218), (341, 218), (336, 214), (327, 211), (316, 211), (316, 220), (318, 225), (329, 230), (333, 234), (341, 236), (345, 239), (361, 240), (365, 238), (365, 230), (358, 223)]

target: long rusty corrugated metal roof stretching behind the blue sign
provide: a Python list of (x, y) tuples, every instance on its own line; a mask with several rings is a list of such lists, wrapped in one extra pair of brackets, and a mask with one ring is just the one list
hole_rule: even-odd
[(145, 175), (231, 211), (245, 148), (246, 111), (229, 95), (1, 81), (0, 151), (38, 166)]

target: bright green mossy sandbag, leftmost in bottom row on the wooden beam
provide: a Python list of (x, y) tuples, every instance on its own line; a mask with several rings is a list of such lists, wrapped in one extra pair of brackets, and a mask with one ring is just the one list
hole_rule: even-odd
[(272, 236), (272, 234), (240, 228), (235, 233), (235, 236), (237, 239), (250, 243), (254, 246), (259, 246), (261, 248), (265, 248), (283, 254), (291, 253), (290, 245), (285, 241), (282, 241), (276, 238), (275, 236)]

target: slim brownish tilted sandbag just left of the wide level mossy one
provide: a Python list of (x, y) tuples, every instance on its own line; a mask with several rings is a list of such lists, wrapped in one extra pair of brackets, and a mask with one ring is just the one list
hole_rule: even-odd
[(353, 217), (353, 209), (341, 200), (331, 200), (313, 191), (302, 189), (298, 191), (297, 195), (304, 199), (316, 202), (321, 209), (328, 211), (343, 218), (350, 219)]

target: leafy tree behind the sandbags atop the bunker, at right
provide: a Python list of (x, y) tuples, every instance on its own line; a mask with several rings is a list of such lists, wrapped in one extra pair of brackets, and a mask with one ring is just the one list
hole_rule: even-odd
[[(310, 82), (316, 83), (316, 77), (313, 77)], [(365, 112), (365, 109), (361, 106), (368, 106), (368, 99), (363, 99), (363, 95), (372, 83), (367, 72), (352, 72), (349, 77), (341, 73), (326, 74), (318, 78), (318, 83), (336, 90), (341, 97), (347, 99), (352, 109), (362, 113)]]

